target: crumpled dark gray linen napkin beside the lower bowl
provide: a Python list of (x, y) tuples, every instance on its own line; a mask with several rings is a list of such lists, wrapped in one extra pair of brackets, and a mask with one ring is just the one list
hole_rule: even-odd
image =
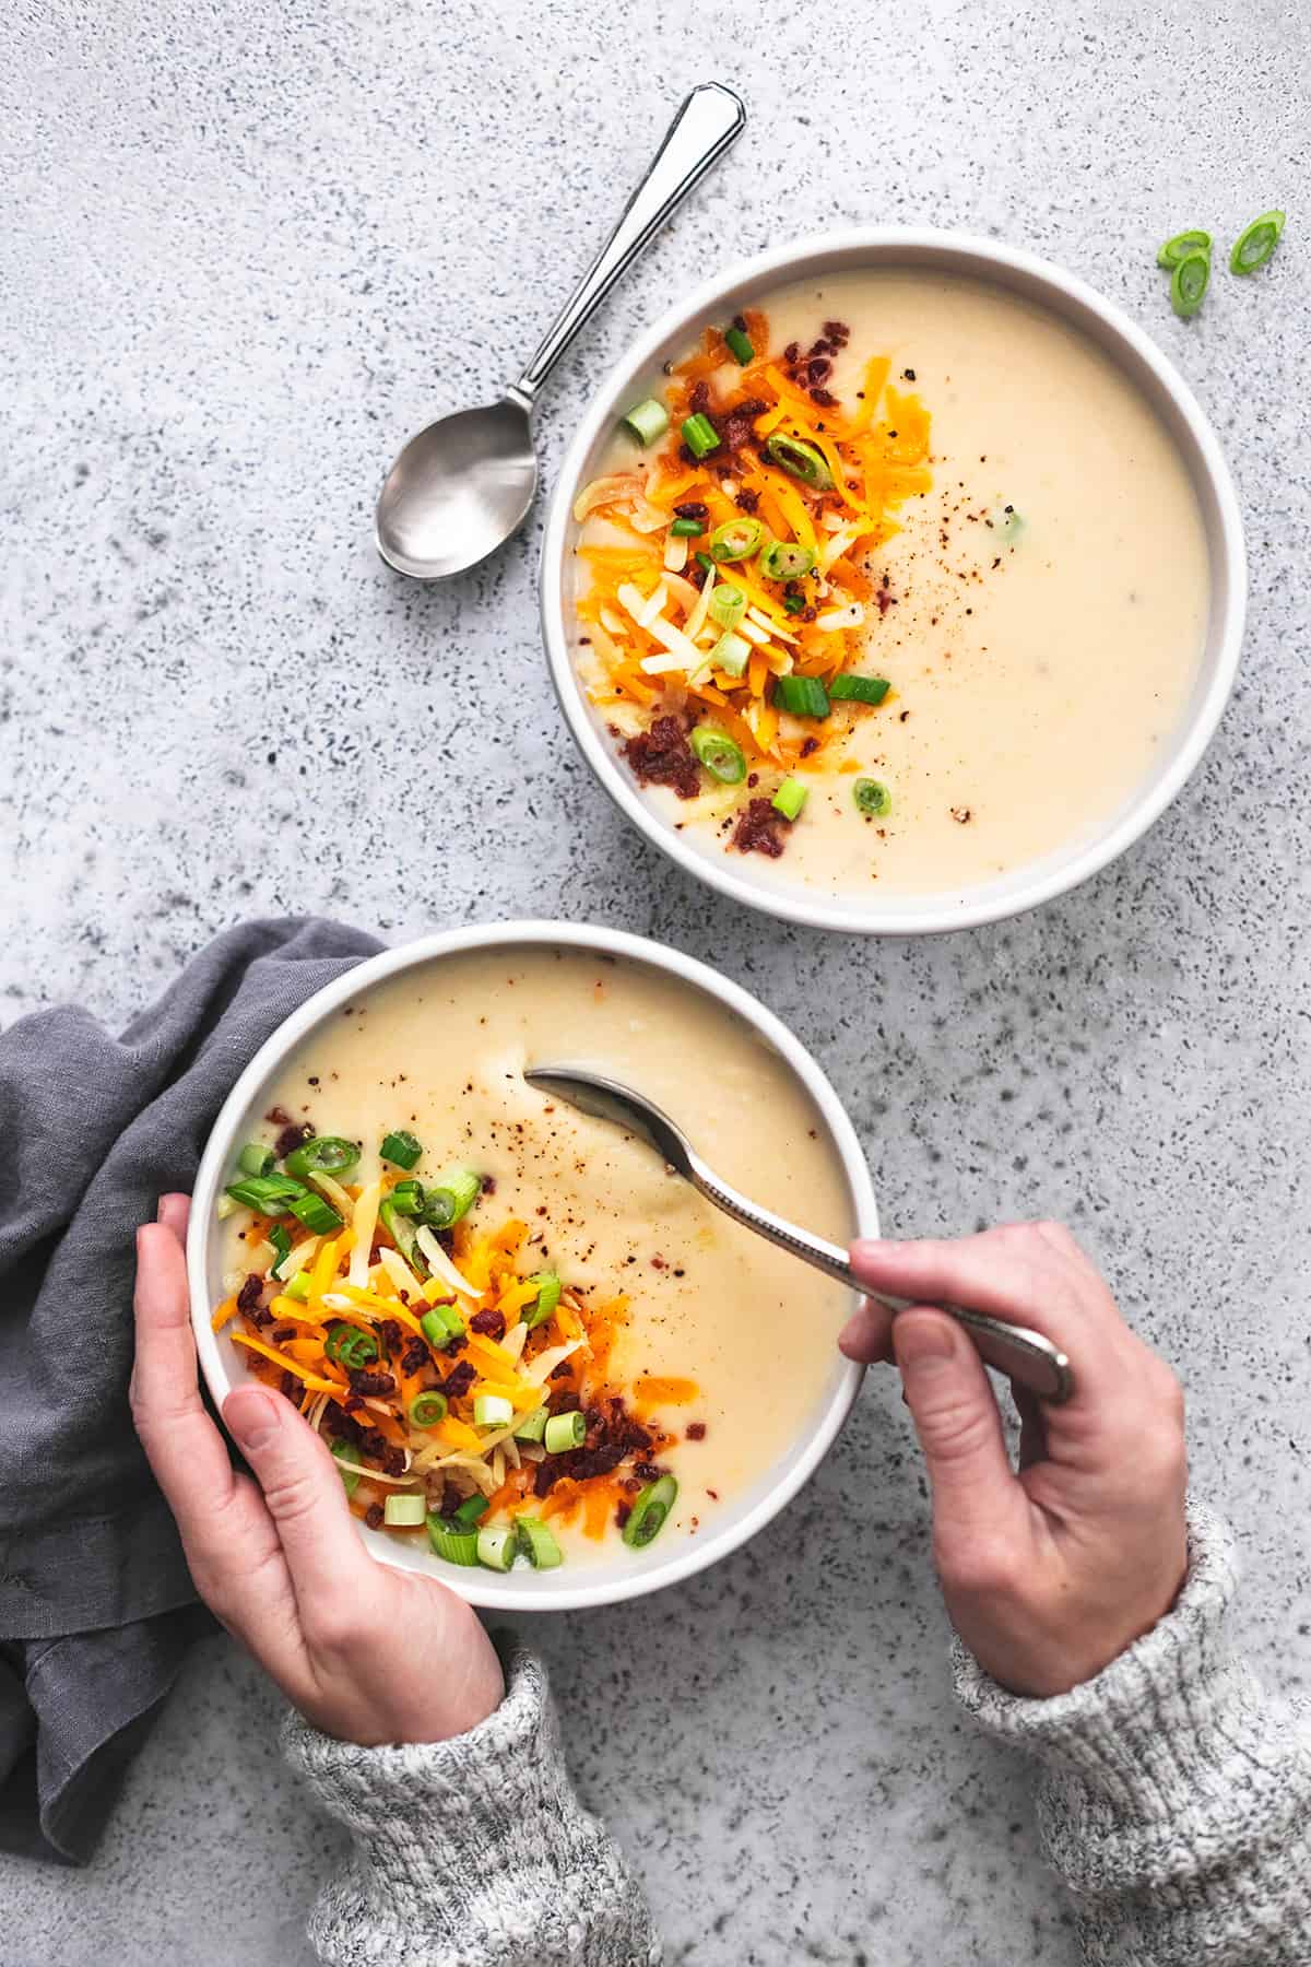
[(206, 1629), (132, 1432), (134, 1231), (189, 1190), (232, 1082), (379, 944), (338, 923), (216, 936), (120, 1039), (0, 1033), (0, 1845), (85, 1863)]

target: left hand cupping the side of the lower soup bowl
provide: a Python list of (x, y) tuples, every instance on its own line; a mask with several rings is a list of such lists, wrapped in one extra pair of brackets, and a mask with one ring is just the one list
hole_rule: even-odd
[(187, 1196), (138, 1229), (132, 1418), (183, 1534), (197, 1591), (301, 1713), (366, 1747), (446, 1741), (505, 1692), (476, 1613), (444, 1585), (375, 1564), (336, 1461), (289, 1401), (240, 1387), (224, 1422), (197, 1391), (187, 1308)]

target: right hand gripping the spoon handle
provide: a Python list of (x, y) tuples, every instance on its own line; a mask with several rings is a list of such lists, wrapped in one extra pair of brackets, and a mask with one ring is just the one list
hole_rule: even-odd
[[(979, 1664), (1014, 1694), (1091, 1680), (1173, 1605), (1187, 1572), (1183, 1395), (1120, 1318), (1059, 1223), (959, 1241), (855, 1243), (869, 1290), (841, 1334), (851, 1359), (896, 1357), (934, 1491), (934, 1558), (947, 1611)], [(1012, 1471), (989, 1377), (934, 1300), (1044, 1332), (1075, 1371), (1063, 1406), (1012, 1389)]]

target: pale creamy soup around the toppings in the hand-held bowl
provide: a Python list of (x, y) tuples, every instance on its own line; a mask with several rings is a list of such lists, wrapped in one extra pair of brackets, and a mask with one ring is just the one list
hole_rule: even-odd
[[(505, 1489), (519, 1481), (523, 1493), (501, 1495), (487, 1517), (491, 1522), (513, 1520), (517, 1511), (546, 1515), (570, 1564), (613, 1560), (625, 1556), (619, 1550), (625, 1505), (656, 1473), (672, 1473), (678, 1483), (662, 1540), (696, 1534), (715, 1511), (769, 1481), (770, 1467), (833, 1387), (839, 1371), (833, 1340), (845, 1294), (729, 1222), (649, 1147), (531, 1088), (523, 1072), (533, 1064), (590, 1066), (641, 1088), (686, 1127), (729, 1182), (822, 1235), (837, 1241), (851, 1235), (851, 1204), (808, 1094), (749, 1027), (658, 970), (588, 952), (507, 948), (407, 972), (334, 1015), (267, 1088), (271, 1117), (252, 1131), (252, 1141), (271, 1145), (291, 1123), (318, 1137), (362, 1143), (358, 1164), (340, 1174), (352, 1198), (377, 1180), (395, 1184), (405, 1172), (379, 1157), (379, 1143), (397, 1129), (423, 1145), (413, 1170), (421, 1182), (430, 1184), (452, 1164), (478, 1170), (482, 1194), (446, 1239), (454, 1265), (470, 1273), (478, 1261), (470, 1253), (507, 1223), (519, 1223), (513, 1269), (523, 1279), (556, 1275), (564, 1286), (560, 1312), (529, 1334), (521, 1359), (580, 1328), (596, 1334), (598, 1308), (619, 1304), (613, 1330), (607, 1328), (607, 1357), (594, 1359), (582, 1345), (562, 1379), (546, 1381), (546, 1397), (558, 1393), (556, 1408), (594, 1414), (601, 1395), (619, 1389), (655, 1452), (613, 1469), (609, 1501), (598, 1517), (586, 1507), (586, 1485), (574, 1485), (578, 1493), (570, 1483), (560, 1485), (552, 1503), (554, 1485), (537, 1473), (542, 1448), (533, 1444), (535, 1463), (525, 1463), (519, 1477), (501, 1471)], [(326, 1192), (332, 1194), (330, 1184)], [(291, 1229), (303, 1233), (295, 1223)], [(267, 1259), (265, 1237), (267, 1222), (252, 1220), (248, 1210), (228, 1220), (224, 1261), (234, 1294), (252, 1265), (261, 1269)], [(307, 1275), (316, 1253), (311, 1249), (305, 1259)], [(269, 1288), (263, 1302), (273, 1312), (254, 1334), (261, 1341), (293, 1332), (277, 1324), (287, 1300), (269, 1300)], [(373, 1261), (368, 1290), (389, 1288)], [(320, 1302), (311, 1296), (301, 1314), (326, 1320)], [(405, 1302), (413, 1312), (427, 1310), (413, 1292)], [(456, 1306), (468, 1324), (476, 1304), (456, 1300)], [(525, 1306), (517, 1316), (531, 1312)], [(509, 1343), (495, 1324), (491, 1338)], [(409, 1334), (403, 1340), (409, 1343)], [(287, 1349), (295, 1351), (295, 1343)], [(277, 1381), (277, 1367), (257, 1353), (248, 1357)], [(419, 1345), (421, 1363), (411, 1379), (395, 1359), (370, 1363), (391, 1367), (413, 1397), (415, 1387), (448, 1385), (452, 1359), (462, 1357), (458, 1345), (430, 1357)], [(316, 1371), (326, 1367), (318, 1363)], [(480, 1363), (480, 1377), (507, 1375)], [(309, 1389), (303, 1406), (313, 1414)], [(454, 1410), (452, 1401), (450, 1418)], [(379, 1412), (383, 1418), (391, 1412), (387, 1399)], [(330, 1414), (316, 1418), (330, 1440)], [(356, 1406), (358, 1424), (371, 1418), (373, 1410)], [(438, 1511), (474, 1485), (458, 1458), (444, 1454), (440, 1430), (430, 1440), (425, 1487), (428, 1509)], [(590, 1420), (588, 1448), (596, 1440)], [(560, 1461), (556, 1473), (568, 1467), (568, 1460)], [(564, 1497), (572, 1497), (570, 1507), (560, 1507)], [(377, 1509), (379, 1495), (366, 1467), (352, 1507), (364, 1513), (370, 1503)], [(401, 1534), (423, 1540), (425, 1532), (417, 1526)]]

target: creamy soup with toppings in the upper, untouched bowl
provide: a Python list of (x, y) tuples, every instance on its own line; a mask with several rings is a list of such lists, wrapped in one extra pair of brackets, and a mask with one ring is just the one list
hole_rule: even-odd
[(934, 273), (706, 330), (584, 488), (578, 667), (682, 838), (934, 893), (1093, 838), (1185, 710), (1201, 513), (1089, 340)]

